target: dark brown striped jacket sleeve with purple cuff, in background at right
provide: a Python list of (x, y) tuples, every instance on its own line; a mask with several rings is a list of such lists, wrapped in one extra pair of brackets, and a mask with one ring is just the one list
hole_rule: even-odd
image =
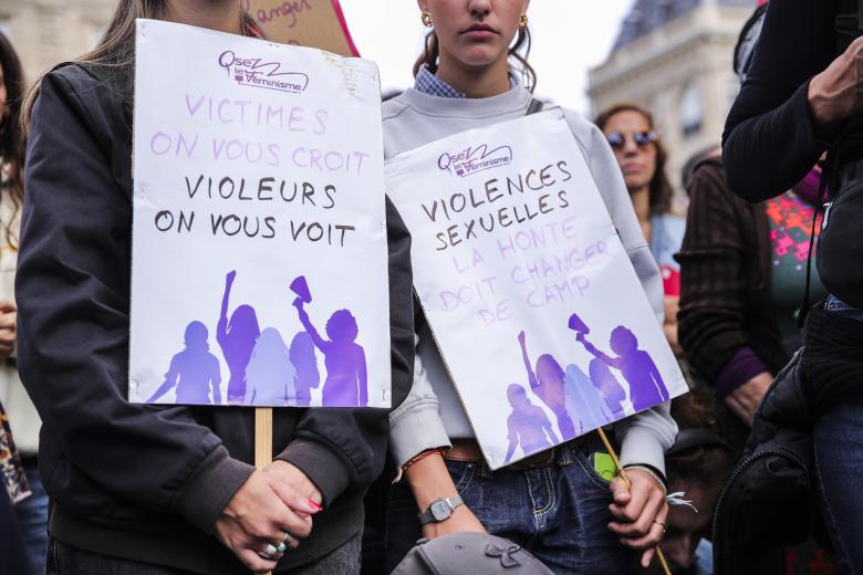
[(777, 374), (790, 358), (772, 314), (770, 224), (762, 203), (728, 192), (721, 161), (698, 165), (680, 252), (680, 345), (708, 384), (749, 346)]

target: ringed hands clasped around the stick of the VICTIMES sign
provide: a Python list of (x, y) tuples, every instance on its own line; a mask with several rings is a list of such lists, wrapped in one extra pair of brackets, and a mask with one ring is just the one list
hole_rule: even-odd
[(282, 543), (289, 533), (298, 539), (312, 532), (311, 515), (319, 510), (297, 490), (271, 473), (253, 471), (216, 521), (216, 537), (251, 571), (272, 571), (281, 554), (259, 555), (268, 545)]

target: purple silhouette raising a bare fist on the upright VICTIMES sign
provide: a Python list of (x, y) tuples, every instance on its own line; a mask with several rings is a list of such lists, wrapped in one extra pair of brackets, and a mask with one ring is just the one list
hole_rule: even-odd
[(240, 305), (228, 322), (228, 300), (237, 272), (231, 271), (225, 278), (225, 295), (221, 299), (221, 314), (216, 326), (216, 341), (228, 363), (228, 404), (243, 405), (246, 399), (246, 366), (249, 365), (254, 342), (261, 335), (258, 315), (251, 305)]

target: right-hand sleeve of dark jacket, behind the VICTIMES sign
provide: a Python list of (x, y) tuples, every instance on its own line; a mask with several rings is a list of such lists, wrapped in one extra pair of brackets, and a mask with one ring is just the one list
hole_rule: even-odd
[[(414, 379), (414, 307), (410, 234), (386, 199), (389, 245), (389, 338), (392, 405), (407, 397)], [(278, 457), (293, 463), (318, 485), (330, 504), (347, 490), (370, 485), (386, 457), (389, 419), (385, 409), (306, 409), (295, 439)]]

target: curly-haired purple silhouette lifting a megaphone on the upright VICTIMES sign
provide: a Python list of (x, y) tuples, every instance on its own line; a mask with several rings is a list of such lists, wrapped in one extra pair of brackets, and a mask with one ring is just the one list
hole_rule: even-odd
[(322, 391), (322, 404), (342, 407), (367, 406), (368, 380), (365, 352), (355, 342), (360, 333), (356, 318), (349, 310), (336, 311), (326, 322), (326, 335), (330, 339), (324, 339), (312, 325), (303, 307), (304, 300), (311, 301), (311, 296), (308, 293), (305, 296), (301, 295), (294, 300), (293, 305), (300, 315), (300, 323), (312, 336), (315, 347), (324, 354), (326, 379)]

